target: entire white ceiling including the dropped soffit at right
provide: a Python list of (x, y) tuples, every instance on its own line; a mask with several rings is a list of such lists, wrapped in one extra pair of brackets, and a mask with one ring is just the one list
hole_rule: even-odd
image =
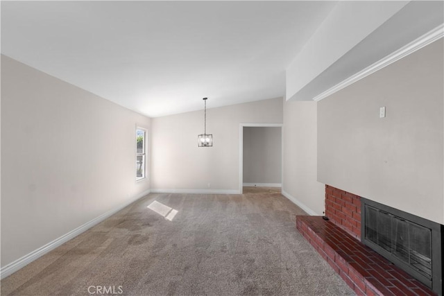
[(313, 99), (443, 24), (442, 3), (1, 1), (1, 53), (155, 117)]

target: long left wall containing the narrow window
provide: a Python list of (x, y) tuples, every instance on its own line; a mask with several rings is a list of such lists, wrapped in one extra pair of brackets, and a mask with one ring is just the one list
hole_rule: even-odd
[(149, 189), (150, 119), (1, 55), (1, 266)]

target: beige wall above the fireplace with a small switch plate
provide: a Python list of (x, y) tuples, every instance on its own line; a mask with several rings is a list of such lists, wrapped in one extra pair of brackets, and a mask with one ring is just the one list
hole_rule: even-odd
[(441, 39), (319, 102), (318, 180), (444, 224), (443, 80)]

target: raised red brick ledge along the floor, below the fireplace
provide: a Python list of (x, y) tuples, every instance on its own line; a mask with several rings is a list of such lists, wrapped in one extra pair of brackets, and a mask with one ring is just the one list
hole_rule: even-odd
[(296, 228), (357, 295), (436, 295), (321, 216), (296, 216)]

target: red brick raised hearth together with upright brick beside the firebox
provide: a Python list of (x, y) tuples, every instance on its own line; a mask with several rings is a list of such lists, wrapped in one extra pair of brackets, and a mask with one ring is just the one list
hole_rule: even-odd
[(296, 216), (296, 228), (357, 295), (436, 295), (361, 243), (359, 196), (325, 187), (325, 216)]

